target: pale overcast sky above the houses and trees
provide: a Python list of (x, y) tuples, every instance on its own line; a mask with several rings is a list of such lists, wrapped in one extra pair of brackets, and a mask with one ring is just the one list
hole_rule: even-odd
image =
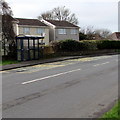
[(14, 17), (37, 18), (42, 12), (66, 6), (79, 19), (79, 26), (118, 31), (119, 0), (6, 0)]

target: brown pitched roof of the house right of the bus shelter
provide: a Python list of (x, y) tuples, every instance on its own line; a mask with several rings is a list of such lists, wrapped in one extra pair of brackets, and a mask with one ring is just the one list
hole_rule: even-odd
[(72, 24), (72, 23), (69, 23), (67, 21), (58, 21), (58, 20), (46, 20), (48, 21), (49, 23), (57, 26), (57, 27), (77, 27), (76, 25)]

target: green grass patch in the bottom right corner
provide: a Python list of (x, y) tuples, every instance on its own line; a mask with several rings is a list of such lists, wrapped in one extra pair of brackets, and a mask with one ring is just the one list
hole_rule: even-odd
[(120, 115), (118, 114), (120, 112), (120, 101), (115, 104), (115, 106), (107, 113), (103, 115), (102, 118), (112, 118), (112, 119), (118, 119), (120, 120)]

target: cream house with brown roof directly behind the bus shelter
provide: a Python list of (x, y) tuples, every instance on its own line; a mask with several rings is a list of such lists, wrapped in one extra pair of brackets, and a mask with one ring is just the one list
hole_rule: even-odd
[(45, 45), (49, 44), (49, 28), (38, 19), (15, 18), (15, 33), (17, 36), (44, 36)]

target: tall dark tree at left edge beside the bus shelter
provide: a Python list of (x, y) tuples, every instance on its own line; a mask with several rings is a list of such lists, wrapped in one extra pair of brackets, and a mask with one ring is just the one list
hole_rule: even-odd
[(8, 3), (4, 0), (0, 1), (1, 13), (2, 13), (2, 45), (4, 48), (4, 55), (6, 52), (9, 55), (15, 55), (15, 33), (13, 28), (13, 13)]

